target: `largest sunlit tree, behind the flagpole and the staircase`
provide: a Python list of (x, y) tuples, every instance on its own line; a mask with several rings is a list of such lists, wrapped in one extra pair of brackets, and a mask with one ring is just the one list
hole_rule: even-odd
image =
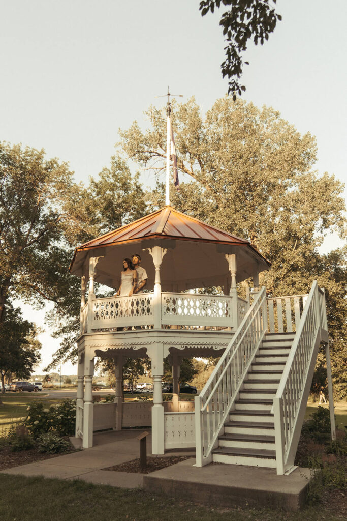
[[(165, 115), (147, 111), (150, 128), (135, 121), (120, 132), (124, 152), (140, 166), (165, 166)], [(318, 175), (316, 142), (301, 135), (272, 108), (259, 109), (229, 97), (217, 100), (203, 119), (194, 98), (174, 104), (173, 128), (181, 190), (171, 201), (183, 213), (249, 239), (269, 261), (262, 283), (270, 295), (301, 294), (313, 279), (326, 289), (337, 394), (345, 393), (346, 265), (344, 249), (319, 253), (331, 231), (345, 237), (343, 185)], [(158, 182), (152, 206), (164, 202)]]

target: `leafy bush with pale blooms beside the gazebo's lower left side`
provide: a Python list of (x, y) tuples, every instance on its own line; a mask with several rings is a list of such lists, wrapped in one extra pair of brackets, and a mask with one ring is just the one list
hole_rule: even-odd
[(34, 400), (27, 412), (24, 425), (34, 437), (49, 431), (57, 431), (61, 436), (71, 436), (74, 432), (75, 400), (63, 400), (59, 405), (49, 407), (41, 401)]

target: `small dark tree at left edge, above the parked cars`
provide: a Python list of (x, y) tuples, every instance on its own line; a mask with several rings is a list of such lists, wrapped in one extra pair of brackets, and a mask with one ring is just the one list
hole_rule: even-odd
[(29, 378), (33, 367), (40, 362), (41, 343), (35, 338), (36, 327), (23, 320), (19, 308), (6, 307), (0, 328), (0, 376), (2, 392), (5, 377)]

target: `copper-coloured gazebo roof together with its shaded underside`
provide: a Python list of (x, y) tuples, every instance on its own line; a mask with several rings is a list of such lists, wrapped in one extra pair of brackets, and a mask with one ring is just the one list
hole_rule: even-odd
[(230, 277), (225, 254), (236, 254), (237, 282), (270, 266), (249, 241), (165, 206), (76, 248), (70, 272), (87, 275), (89, 258), (103, 257), (95, 280), (118, 288), (122, 259), (139, 253), (148, 275), (147, 289), (151, 289), (155, 267), (148, 249), (157, 245), (166, 249), (160, 267), (162, 291), (223, 286)]

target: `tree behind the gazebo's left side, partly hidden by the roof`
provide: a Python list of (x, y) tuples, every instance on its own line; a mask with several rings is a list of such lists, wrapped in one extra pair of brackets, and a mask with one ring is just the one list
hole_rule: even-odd
[[(86, 214), (83, 220), (84, 235), (80, 232), (73, 237), (70, 233), (71, 246), (67, 245), (64, 251), (58, 247), (52, 249), (52, 269), (47, 272), (43, 266), (41, 272), (41, 277), (47, 278), (47, 283), (49, 281), (58, 296), (54, 300), (53, 312), (47, 314), (46, 320), (54, 329), (53, 336), (62, 338), (53, 362), (45, 368), (47, 371), (61, 362), (74, 362), (77, 356), (75, 342), (80, 334), (81, 281), (78, 277), (71, 277), (68, 272), (74, 246), (147, 213), (146, 194), (138, 181), (138, 174), (132, 175), (119, 156), (112, 156), (109, 167), (103, 168), (96, 179), (90, 178), (89, 187), (81, 192), (75, 205), (76, 208), (82, 208), (82, 215)], [(98, 288), (98, 284), (95, 284), (96, 294)], [(113, 293), (111, 291), (110, 295)], [(105, 296), (105, 290), (102, 296)]]

